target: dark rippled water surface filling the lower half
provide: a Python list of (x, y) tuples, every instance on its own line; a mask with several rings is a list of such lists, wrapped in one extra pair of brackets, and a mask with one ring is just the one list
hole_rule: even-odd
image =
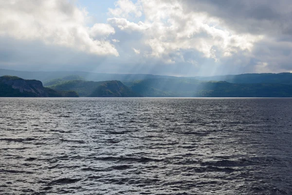
[(292, 194), (292, 99), (0, 98), (0, 194)]

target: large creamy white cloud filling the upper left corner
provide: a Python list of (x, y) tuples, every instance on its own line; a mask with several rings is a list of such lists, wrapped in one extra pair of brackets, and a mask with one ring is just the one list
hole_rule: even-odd
[(41, 40), (95, 55), (118, 56), (115, 47), (95, 37), (113, 34), (107, 24), (86, 26), (87, 12), (67, 0), (0, 0), (0, 36)]

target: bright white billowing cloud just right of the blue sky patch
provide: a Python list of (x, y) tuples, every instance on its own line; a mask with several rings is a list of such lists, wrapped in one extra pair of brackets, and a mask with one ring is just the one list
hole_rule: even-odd
[[(116, 4), (116, 9), (124, 10), (119, 5)], [(145, 56), (161, 58), (166, 62), (173, 62), (182, 50), (199, 51), (204, 58), (219, 61), (238, 51), (250, 52), (254, 43), (263, 38), (261, 35), (231, 31), (226, 26), (220, 26), (220, 20), (206, 13), (186, 13), (181, 1), (141, 0), (141, 5), (145, 22), (135, 23), (126, 18), (110, 18), (108, 22), (127, 33), (142, 33), (142, 41), (152, 50), (150, 55)], [(124, 14), (119, 13), (119, 16)]]

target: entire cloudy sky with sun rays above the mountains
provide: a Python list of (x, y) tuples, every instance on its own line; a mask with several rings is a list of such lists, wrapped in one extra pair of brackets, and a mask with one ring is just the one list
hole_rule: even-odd
[(0, 0), (0, 68), (292, 72), (291, 0)]

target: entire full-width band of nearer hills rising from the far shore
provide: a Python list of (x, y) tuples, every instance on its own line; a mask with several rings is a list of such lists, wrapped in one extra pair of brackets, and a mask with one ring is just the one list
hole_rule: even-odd
[(292, 97), (292, 85), (278, 83), (237, 84), (193, 78), (152, 78), (124, 83), (61, 78), (54, 85), (43, 87), (39, 80), (3, 76), (0, 97), (77, 97), (78, 94), (81, 97)]

